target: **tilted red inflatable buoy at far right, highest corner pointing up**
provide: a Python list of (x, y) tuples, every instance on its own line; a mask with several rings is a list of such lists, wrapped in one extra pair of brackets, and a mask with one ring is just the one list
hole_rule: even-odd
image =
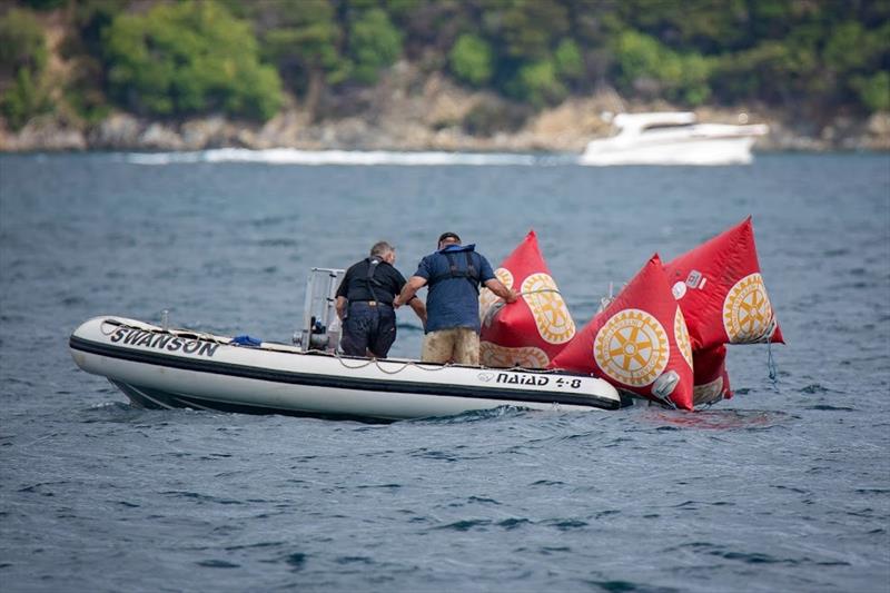
[(718, 344), (784, 344), (760, 275), (749, 216), (664, 266), (693, 349)]

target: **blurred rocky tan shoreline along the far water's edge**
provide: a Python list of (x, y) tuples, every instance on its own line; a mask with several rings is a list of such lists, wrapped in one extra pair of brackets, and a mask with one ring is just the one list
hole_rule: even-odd
[[(444, 150), (496, 152), (580, 152), (587, 141), (610, 134), (606, 111), (676, 110), (668, 103), (625, 105), (613, 92), (571, 98), (560, 106), (526, 115), (508, 131), (469, 134), (467, 121), (507, 120), (514, 108), (485, 92), (469, 92), (441, 76), (418, 80), (411, 68), (394, 68), (374, 88), (349, 98), (362, 106), (357, 115), (312, 117), (293, 98), (265, 123), (234, 121), (221, 116), (157, 121), (116, 112), (95, 126), (77, 126), (42, 116), (21, 130), (0, 119), (0, 151), (191, 151), (212, 148), (293, 148), (303, 150)], [(505, 116), (506, 113), (506, 116)], [(768, 123), (770, 134), (756, 150), (890, 151), (890, 113), (857, 120), (835, 117), (815, 126), (783, 113), (739, 106), (698, 109), (702, 121)], [(510, 123), (510, 121), (507, 121)], [(478, 126), (477, 126), (478, 127)], [(510, 127), (510, 126), (507, 126)]]

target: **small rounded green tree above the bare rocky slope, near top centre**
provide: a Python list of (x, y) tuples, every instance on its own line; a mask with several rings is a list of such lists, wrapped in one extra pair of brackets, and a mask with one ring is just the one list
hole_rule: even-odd
[(349, 49), (353, 58), (353, 78), (370, 85), (379, 71), (390, 66), (402, 53), (402, 33), (379, 8), (366, 10), (349, 26)]

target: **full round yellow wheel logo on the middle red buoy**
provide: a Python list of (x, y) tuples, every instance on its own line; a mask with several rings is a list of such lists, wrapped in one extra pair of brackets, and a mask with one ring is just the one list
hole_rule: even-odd
[(640, 309), (613, 315), (596, 333), (593, 357), (615, 380), (643, 387), (655, 380), (668, 366), (671, 347), (664, 327)]

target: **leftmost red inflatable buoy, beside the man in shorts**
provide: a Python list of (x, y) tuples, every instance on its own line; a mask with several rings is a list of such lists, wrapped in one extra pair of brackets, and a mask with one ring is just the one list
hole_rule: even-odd
[(521, 298), (504, 306), (487, 288), (479, 291), (479, 363), (491, 367), (546, 367), (575, 336), (575, 323), (541, 255), (534, 230), (495, 275)]

